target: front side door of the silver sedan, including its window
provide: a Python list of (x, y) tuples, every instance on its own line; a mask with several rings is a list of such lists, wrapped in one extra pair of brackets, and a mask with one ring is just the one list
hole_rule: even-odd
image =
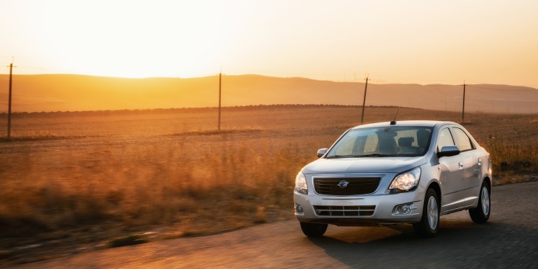
[[(437, 135), (437, 152), (444, 146), (454, 146), (454, 138), (449, 126), (442, 127)], [(465, 171), (461, 154), (456, 156), (444, 156), (439, 158), (439, 167), (441, 170), (439, 181), (442, 188), (442, 212), (450, 212), (465, 205), (464, 184)]]

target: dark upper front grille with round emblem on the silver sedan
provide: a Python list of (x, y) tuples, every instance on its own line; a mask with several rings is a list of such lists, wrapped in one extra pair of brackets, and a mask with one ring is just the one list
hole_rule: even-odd
[(381, 178), (314, 178), (314, 189), (322, 195), (374, 193)]

